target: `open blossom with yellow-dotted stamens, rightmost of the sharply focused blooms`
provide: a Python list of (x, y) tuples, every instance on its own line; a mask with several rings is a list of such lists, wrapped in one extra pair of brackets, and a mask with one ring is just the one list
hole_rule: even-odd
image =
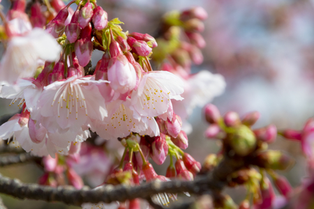
[(132, 108), (137, 117), (155, 117), (164, 114), (171, 105), (171, 99), (183, 100), (184, 84), (171, 72), (149, 72), (142, 77), (131, 96)]

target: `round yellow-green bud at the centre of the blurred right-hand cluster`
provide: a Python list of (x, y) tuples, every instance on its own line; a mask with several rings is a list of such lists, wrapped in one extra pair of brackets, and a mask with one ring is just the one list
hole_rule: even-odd
[(237, 155), (245, 156), (256, 147), (254, 133), (246, 125), (240, 125), (227, 138), (230, 146)]

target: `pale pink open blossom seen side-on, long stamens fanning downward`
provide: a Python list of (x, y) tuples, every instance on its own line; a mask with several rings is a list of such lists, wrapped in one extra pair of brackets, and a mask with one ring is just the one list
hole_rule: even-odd
[(107, 109), (98, 85), (105, 83), (107, 81), (95, 81), (94, 77), (73, 76), (45, 86), (38, 101), (40, 115), (48, 124), (57, 122), (59, 126), (45, 125), (47, 130), (54, 132), (59, 128), (69, 128), (70, 131), (77, 132), (89, 118), (103, 121)]

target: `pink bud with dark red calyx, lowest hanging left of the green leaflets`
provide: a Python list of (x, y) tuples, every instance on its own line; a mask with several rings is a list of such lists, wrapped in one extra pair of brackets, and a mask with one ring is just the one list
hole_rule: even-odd
[(77, 60), (82, 67), (85, 67), (91, 60), (93, 42), (91, 42), (91, 24), (81, 31), (81, 38), (75, 42), (74, 49)]

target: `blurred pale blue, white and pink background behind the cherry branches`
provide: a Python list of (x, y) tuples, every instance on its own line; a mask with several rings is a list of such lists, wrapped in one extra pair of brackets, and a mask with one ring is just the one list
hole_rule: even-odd
[[(215, 98), (220, 111), (260, 111), (261, 118), (255, 127), (274, 123), (278, 129), (301, 129), (307, 118), (314, 114), (314, 1), (311, 0), (100, 0), (108, 13), (124, 22), (124, 31), (156, 34), (160, 18), (170, 10), (184, 10), (202, 6), (209, 15), (202, 33), (207, 46), (202, 49), (204, 62), (194, 65), (193, 72), (209, 70), (225, 77), (225, 93)], [(10, 1), (2, 0), (6, 12)], [(100, 59), (94, 53), (94, 65)], [(17, 109), (9, 107), (9, 100), (0, 100), (0, 114)], [(188, 120), (193, 132), (188, 136), (188, 153), (202, 162), (209, 153), (219, 149), (217, 141), (205, 139), (208, 124), (202, 118), (202, 109), (196, 108)], [(293, 186), (306, 176), (306, 162), (299, 144), (278, 137), (271, 145), (286, 150), (297, 160), (285, 172)], [(165, 173), (163, 167), (156, 167)], [(26, 183), (37, 182), (43, 174), (35, 164), (0, 168), (0, 173), (19, 178)], [(238, 188), (241, 191), (243, 188)], [(238, 191), (238, 189), (236, 189)], [(239, 202), (241, 193), (230, 192)], [(8, 208), (76, 208), (43, 201), (19, 201), (6, 195)]]

